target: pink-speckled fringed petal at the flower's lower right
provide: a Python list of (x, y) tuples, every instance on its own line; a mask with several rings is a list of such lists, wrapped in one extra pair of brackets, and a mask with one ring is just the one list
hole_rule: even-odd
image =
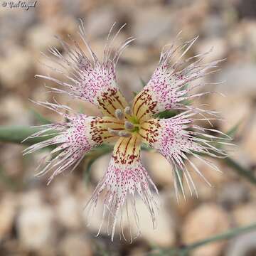
[(185, 160), (188, 161), (192, 169), (210, 186), (210, 183), (206, 180), (201, 171), (199, 171), (196, 165), (188, 158), (188, 154), (200, 159), (216, 171), (220, 170), (210, 161), (204, 159), (203, 155), (221, 158), (226, 156), (221, 149), (216, 147), (216, 144), (228, 144), (228, 142), (223, 142), (223, 139), (227, 139), (227, 137), (220, 139), (214, 135), (207, 134), (208, 130), (218, 134), (222, 133), (214, 129), (206, 129), (193, 124), (195, 115), (196, 113), (194, 111), (187, 111), (169, 119), (149, 119), (142, 124), (139, 131), (143, 142), (159, 151), (159, 153), (165, 156), (169, 163), (172, 164), (175, 174), (174, 186), (176, 188), (177, 198), (178, 186), (181, 187), (181, 191), (185, 197), (180, 171), (182, 171), (182, 175), (186, 180), (191, 195), (193, 190), (197, 195), (196, 186), (192, 181), (191, 174), (184, 164)]

